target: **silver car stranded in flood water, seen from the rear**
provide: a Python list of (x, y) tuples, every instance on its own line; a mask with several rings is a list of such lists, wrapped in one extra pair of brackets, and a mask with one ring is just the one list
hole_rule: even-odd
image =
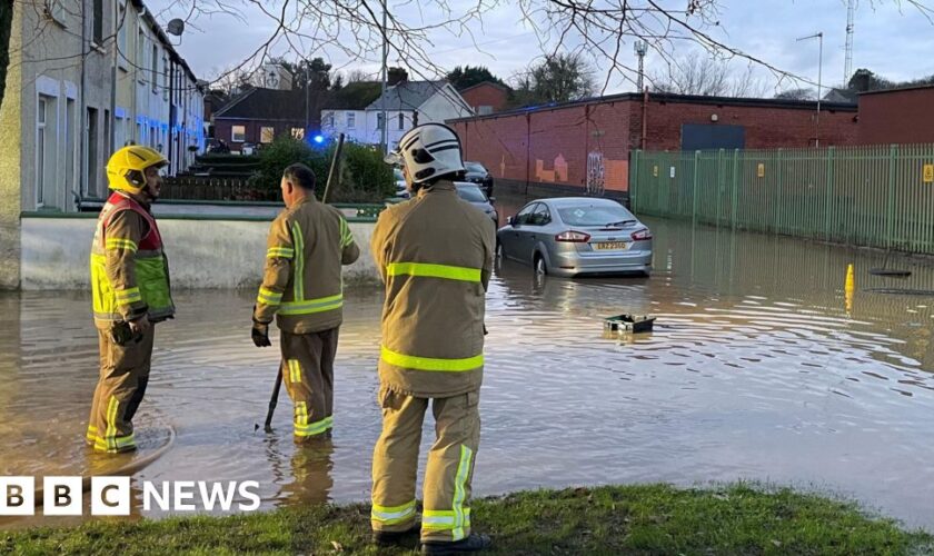
[(652, 232), (610, 199), (563, 197), (527, 203), (496, 232), (496, 255), (536, 274), (652, 272)]

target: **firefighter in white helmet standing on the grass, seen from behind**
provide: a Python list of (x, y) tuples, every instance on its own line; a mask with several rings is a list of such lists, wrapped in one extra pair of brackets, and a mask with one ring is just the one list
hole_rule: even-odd
[(449, 127), (413, 128), (387, 162), (404, 165), (413, 198), (380, 214), (371, 241), (386, 284), (372, 538), (396, 544), (419, 529), (415, 484), (430, 403), (436, 435), (425, 470), (421, 552), (481, 550), (490, 538), (470, 533), (469, 499), (480, 439), (484, 297), (493, 272), (494, 228), (457, 196), (453, 180), (464, 162), (460, 140)]

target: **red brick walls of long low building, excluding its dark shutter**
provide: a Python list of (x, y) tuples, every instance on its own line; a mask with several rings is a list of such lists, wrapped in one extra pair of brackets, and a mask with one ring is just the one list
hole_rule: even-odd
[[(464, 142), (465, 158), (481, 162), (495, 178), (583, 188), (587, 179), (588, 153), (599, 152), (604, 161), (605, 188), (625, 191), (629, 152), (640, 147), (642, 109), (640, 100), (622, 99), (475, 118), (456, 122), (454, 127)], [(712, 123), (713, 113), (717, 115), (719, 123), (746, 128), (747, 149), (813, 145), (815, 110), (809, 108), (653, 99), (647, 107), (646, 148), (679, 149), (682, 125)], [(855, 111), (822, 110), (821, 146), (854, 145), (857, 136), (855, 115)], [(559, 171), (563, 170), (562, 162), (567, 165), (566, 177)]]

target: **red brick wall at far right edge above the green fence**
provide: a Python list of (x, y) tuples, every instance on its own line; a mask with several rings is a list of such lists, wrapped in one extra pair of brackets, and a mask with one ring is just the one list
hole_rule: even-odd
[(860, 145), (934, 142), (934, 88), (860, 97)]

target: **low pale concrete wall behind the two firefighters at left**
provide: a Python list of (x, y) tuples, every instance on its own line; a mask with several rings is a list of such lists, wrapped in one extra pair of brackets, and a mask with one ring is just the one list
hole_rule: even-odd
[[(161, 217), (172, 288), (255, 288), (262, 278), (271, 220)], [(88, 289), (96, 218), (22, 219), (22, 289)], [(346, 282), (378, 282), (369, 241), (372, 222), (350, 222), (360, 258), (345, 267)]]

